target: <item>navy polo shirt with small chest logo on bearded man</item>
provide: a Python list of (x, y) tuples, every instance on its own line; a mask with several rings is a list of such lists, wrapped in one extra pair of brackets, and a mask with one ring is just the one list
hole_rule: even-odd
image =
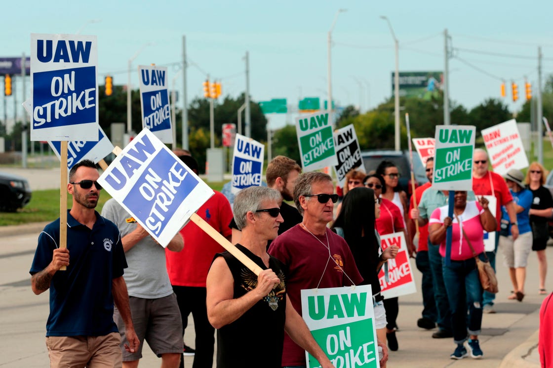
[[(127, 268), (117, 226), (97, 211), (92, 230), (67, 211), (69, 266), (50, 284), (46, 336), (102, 336), (117, 332), (113, 322), (112, 280)], [(31, 275), (42, 271), (59, 247), (60, 219), (46, 225), (38, 238)]]

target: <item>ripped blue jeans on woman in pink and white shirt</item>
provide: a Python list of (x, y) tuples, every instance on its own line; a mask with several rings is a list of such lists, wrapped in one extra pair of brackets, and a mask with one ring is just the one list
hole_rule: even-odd
[[(483, 255), (481, 254), (480, 257), (482, 259)], [(462, 344), (467, 340), (467, 323), (468, 334), (481, 333), (482, 284), (478, 278), (478, 268), (474, 258), (451, 260), (448, 266), (445, 265), (445, 259), (443, 262), (444, 282), (451, 308), (453, 340), (456, 344)]]

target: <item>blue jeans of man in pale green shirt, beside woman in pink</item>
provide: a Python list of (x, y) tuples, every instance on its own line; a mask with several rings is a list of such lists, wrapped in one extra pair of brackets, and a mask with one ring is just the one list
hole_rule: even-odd
[(442, 256), (440, 246), (428, 242), (428, 258), (430, 271), (432, 272), (432, 286), (434, 288), (434, 300), (436, 302), (436, 323), (441, 330), (451, 331), (451, 312), (447, 300), (446, 286), (444, 285), (444, 273), (442, 272)]

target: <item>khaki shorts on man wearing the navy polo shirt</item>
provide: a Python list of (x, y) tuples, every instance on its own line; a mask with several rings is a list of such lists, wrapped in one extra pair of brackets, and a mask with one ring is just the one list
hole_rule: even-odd
[(46, 348), (53, 368), (122, 366), (118, 332), (104, 336), (48, 336)]

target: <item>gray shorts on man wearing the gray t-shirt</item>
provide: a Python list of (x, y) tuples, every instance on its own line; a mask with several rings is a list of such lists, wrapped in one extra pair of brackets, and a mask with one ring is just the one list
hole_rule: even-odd
[(158, 357), (166, 353), (182, 354), (182, 320), (174, 293), (157, 299), (131, 296), (129, 303), (134, 330), (140, 339), (140, 345), (134, 353), (125, 350), (124, 344), (129, 343), (125, 336), (125, 324), (117, 307), (114, 308), (113, 321), (117, 323), (117, 328), (121, 333), (120, 346), (123, 351), (123, 361), (142, 358), (144, 339)]

